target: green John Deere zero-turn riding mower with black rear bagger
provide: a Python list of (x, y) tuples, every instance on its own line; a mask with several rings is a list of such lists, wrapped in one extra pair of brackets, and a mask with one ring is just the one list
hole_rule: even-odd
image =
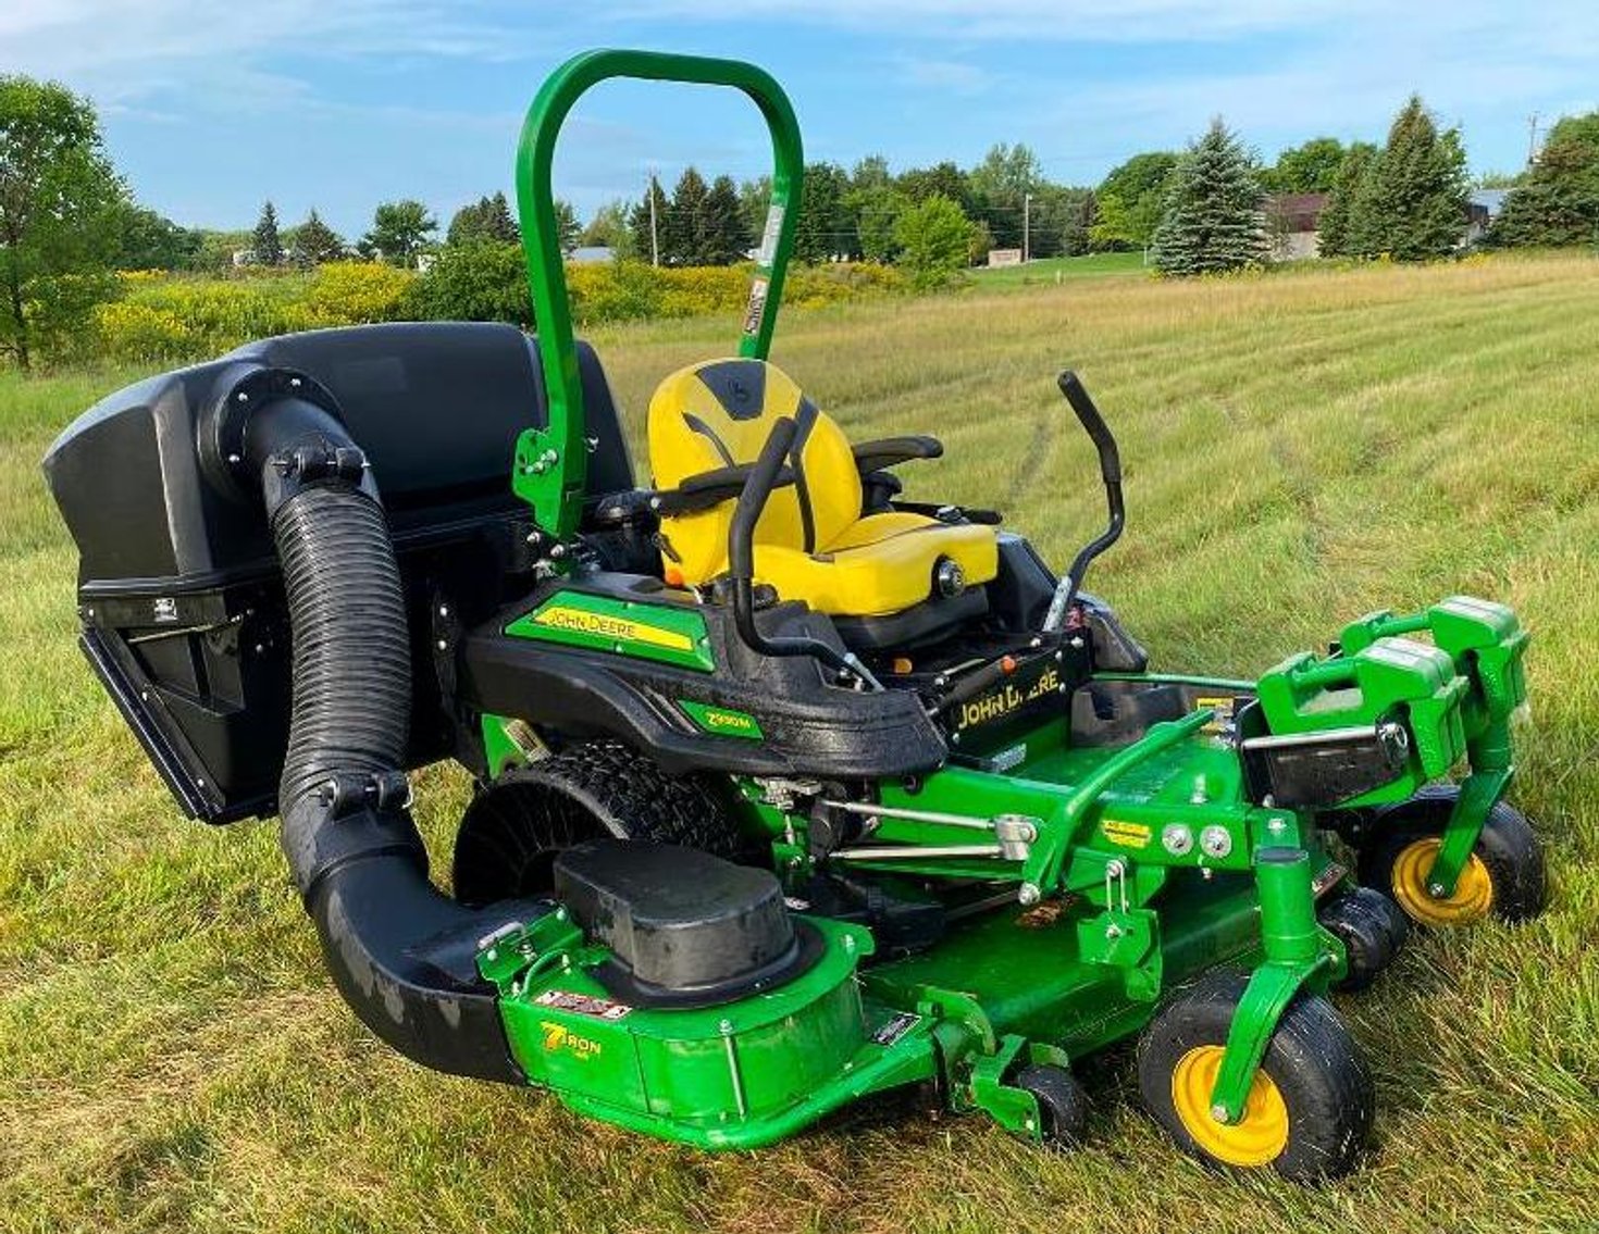
[[(612, 77), (734, 86), (776, 153), (737, 355), (660, 384), (651, 488), (550, 192)], [(281, 814), (334, 981), (421, 1063), (704, 1148), (889, 1089), (1068, 1141), (1075, 1068), (1137, 1036), (1186, 1152), (1350, 1168), (1372, 1081), (1326, 993), (1407, 921), (1543, 898), (1503, 801), (1527, 635), (1452, 598), (1257, 681), (1151, 673), (1081, 590), (1122, 488), (1073, 374), (1110, 524), (1057, 577), (900, 497), (939, 441), (852, 443), (768, 363), (801, 168), (760, 69), (563, 66), (518, 160), (537, 339), (265, 339), (51, 448), (90, 663), (189, 815)], [(453, 895), (408, 812), (443, 758), (478, 783)]]

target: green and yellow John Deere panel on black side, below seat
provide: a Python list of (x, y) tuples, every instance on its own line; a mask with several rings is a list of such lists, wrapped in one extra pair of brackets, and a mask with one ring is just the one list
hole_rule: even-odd
[(505, 633), (705, 673), (716, 667), (700, 614), (585, 591), (556, 591), (532, 612), (507, 625)]

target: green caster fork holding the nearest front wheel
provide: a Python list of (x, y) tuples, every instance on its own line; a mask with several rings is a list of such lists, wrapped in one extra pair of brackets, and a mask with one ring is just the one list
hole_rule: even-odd
[(1250, 973), (1233, 1012), (1226, 1053), (1210, 1093), (1210, 1114), (1223, 1124), (1244, 1116), (1255, 1071), (1289, 1002), (1324, 970), (1330, 975), (1340, 959), (1335, 940), (1316, 922), (1311, 858), (1305, 849), (1258, 849), (1255, 886), (1265, 962)]

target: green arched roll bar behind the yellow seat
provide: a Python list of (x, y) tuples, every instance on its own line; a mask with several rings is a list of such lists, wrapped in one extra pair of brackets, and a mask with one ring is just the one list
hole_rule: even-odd
[(528, 259), (528, 288), (532, 293), (548, 422), (545, 428), (528, 428), (516, 438), (512, 489), (532, 507), (539, 527), (556, 540), (568, 539), (577, 529), (588, 475), (588, 446), (584, 440), (582, 377), (572, 339), (566, 264), (555, 225), (550, 165), (555, 139), (572, 104), (590, 86), (612, 77), (732, 86), (748, 94), (766, 117), (772, 134), (772, 198), (755, 259), (750, 302), (739, 339), (740, 356), (764, 360), (771, 348), (804, 177), (804, 150), (793, 105), (782, 86), (753, 64), (660, 51), (603, 50), (572, 56), (545, 80), (521, 126), (516, 208), (521, 214), (521, 246)]

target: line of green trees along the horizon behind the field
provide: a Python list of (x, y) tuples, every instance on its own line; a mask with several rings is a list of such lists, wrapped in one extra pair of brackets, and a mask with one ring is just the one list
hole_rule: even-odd
[[(1561, 120), (1524, 171), (1492, 182), (1509, 192), (1482, 243), (1599, 245), (1599, 112)], [(769, 190), (768, 179), (707, 181), (688, 168), (670, 193), (651, 179), (643, 200), (611, 201), (587, 225), (558, 201), (561, 248), (604, 245), (676, 267), (740, 262), (764, 230)], [(1324, 256), (1415, 261), (1458, 251), (1468, 192), (1458, 129), (1439, 128), (1412, 98), (1383, 145), (1313, 137), (1266, 165), (1215, 120), (1185, 150), (1135, 153), (1092, 187), (1052, 182), (1023, 144), (996, 144), (969, 169), (947, 160), (895, 173), (881, 155), (849, 169), (811, 163), (795, 257), (895, 264), (924, 288), (993, 248), (1023, 246), (1031, 257), (1143, 249), (1167, 273), (1206, 273), (1268, 257), (1271, 198), (1326, 193)], [(523, 294), (504, 193), (456, 211), (443, 241), (438, 232), (416, 200), (379, 205), (353, 243), (315, 209), (281, 227), (270, 201), (253, 232), (179, 227), (134, 200), (86, 99), (0, 75), (0, 355), (22, 366), (115, 296), (115, 272), (217, 270), (241, 251), (257, 265), (305, 269), (341, 259), (414, 269), (438, 253), (449, 278), (435, 281), (454, 283), (451, 294), (483, 305)]]

